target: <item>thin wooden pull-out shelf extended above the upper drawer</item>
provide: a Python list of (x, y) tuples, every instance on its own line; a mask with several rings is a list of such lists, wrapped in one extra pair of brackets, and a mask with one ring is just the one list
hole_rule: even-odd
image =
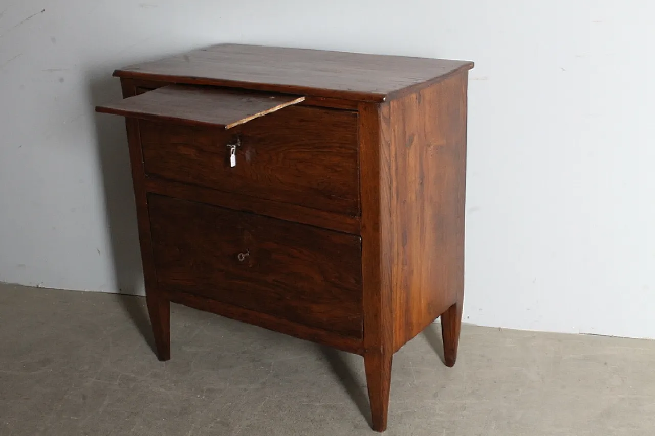
[(174, 84), (98, 106), (96, 111), (228, 130), (303, 100), (303, 96)]

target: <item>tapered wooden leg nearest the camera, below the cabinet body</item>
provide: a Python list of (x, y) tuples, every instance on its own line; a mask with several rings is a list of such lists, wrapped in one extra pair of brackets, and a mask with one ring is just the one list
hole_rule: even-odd
[(389, 413), (392, 357), (392, 354), (380, 352), (364, 354), (364, 369), (371, 403), (373, 430), (379, 433), (386, 430), (386, 418)]

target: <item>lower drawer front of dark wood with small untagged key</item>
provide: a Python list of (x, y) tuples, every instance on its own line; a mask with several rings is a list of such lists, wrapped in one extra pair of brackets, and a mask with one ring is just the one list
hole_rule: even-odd
[(358, 236), (149, 194), (157, 281), (362, 337)]

